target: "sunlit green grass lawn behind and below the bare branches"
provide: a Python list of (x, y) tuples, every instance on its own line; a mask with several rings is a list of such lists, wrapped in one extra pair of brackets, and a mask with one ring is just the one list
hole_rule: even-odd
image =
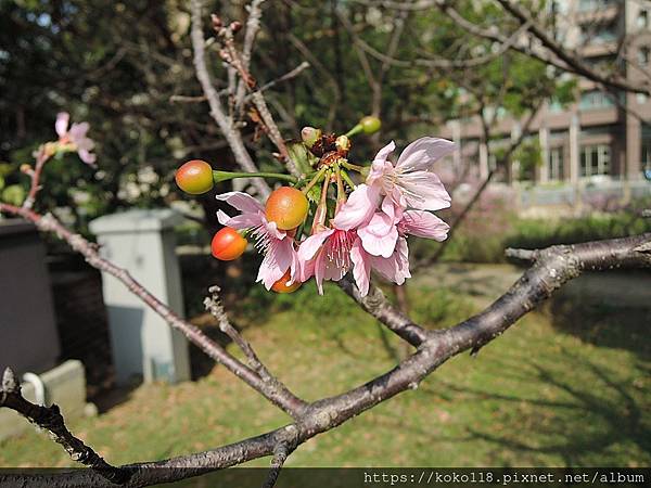
[[(414, 280), (409, 294), (414, 317), (430, 328), (450, 325), (482, 301), (423, 283)], [(363, 383), (405, 352), (334, 286), (323, 298), (314, 284), (263, 305), (259, 296), (242, 303), (233, 322), (306, 399)], [(570, 305), (531, 313), (476, 359), (454, 358), (419, 389), (301, 446), (288, 465), (651, 465), (649, 310)], [(289, 421), (224, 368), (206, 371), (192, 383), (141, 386), (69, 427), (119, 464), (209, 449)], [(0, 445), (0, 464), (74, 465), (31, 431)]]

